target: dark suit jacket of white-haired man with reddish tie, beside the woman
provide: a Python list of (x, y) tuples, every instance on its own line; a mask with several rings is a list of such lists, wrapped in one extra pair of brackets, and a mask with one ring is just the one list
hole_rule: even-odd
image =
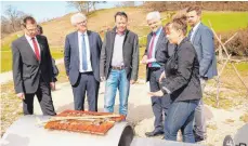
[[(149, 50), (149, 42), (152, 40), (153, 32), (149, 32), (147, 35), (147, 42), (146, 42), (146, 49), (144, 55), (148, 56), (148, 50)], [(155, 48), (155, 58), (156, 62), (161, 66), (161, 68), (165, 68), (165, 65), (167, 63), (167, 59), (173, 54), (174, 52), (174, 45), (169, 43), (169, 40), (167, 39), (164, 29), (161, 30), (159, 38), (157, 40), (157, 44)], [(149, 74), (148, 74), (148, 66), (146, 65), (146, 81), (149, 81)]]

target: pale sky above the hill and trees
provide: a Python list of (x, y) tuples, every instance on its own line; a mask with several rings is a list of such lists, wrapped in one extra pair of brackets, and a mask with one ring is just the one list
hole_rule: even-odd
[[(97, 4), (96, 9), (114, 8), (117, 3), (118, 1), (107, 1), (107, 3)], [(139, 3), (141, 2), (135, 2), (135, 4)], [(37, 22), (43, 22), (48, 18), (60, 17), (71, 12), (77, 12), (75, 8), (68, 6), (66, 1), (1, 1), (1, 15), (4, 15), (8, 5), (12, 5), (24, 13), (31, 14)]]

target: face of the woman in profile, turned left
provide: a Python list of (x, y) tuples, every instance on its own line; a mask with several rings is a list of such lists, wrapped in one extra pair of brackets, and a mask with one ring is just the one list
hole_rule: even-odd
[(166, 37), (170, 41), (170, 43), (177, 44), (180, 39), (180, 31), (175, 30), (174, 28), (171, 27), (171, 25), (168, 26), (168, 31), (166, 34)]

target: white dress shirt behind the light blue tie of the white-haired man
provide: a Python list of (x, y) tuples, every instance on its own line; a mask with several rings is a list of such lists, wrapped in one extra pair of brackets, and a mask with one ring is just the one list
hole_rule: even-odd
[[(87, 48), (87, 70), (82, 69), (82, 35), (84, 35), (84, 42)], [(91, 53), (90, 53), (90, 44), (89, 44), (89, 38), (87, 35), (87, 31), (83, 34), (78, 31), (78, 47), (79, 47), (79, 71), (80, 72), (89, 72), (92, 71), (91, 66)]]

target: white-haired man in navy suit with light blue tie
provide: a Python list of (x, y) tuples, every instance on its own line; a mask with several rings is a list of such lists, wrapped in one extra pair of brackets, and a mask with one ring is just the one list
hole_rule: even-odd
[(87, 92), (89, 110), (97, 111), (102, 40), (99, 34), (87, 29), (86, 15), (77, 13), (70, 21), (77, 31), (66, 36), (64, 62), (74, 92), (75, 109), (84, 110)]

